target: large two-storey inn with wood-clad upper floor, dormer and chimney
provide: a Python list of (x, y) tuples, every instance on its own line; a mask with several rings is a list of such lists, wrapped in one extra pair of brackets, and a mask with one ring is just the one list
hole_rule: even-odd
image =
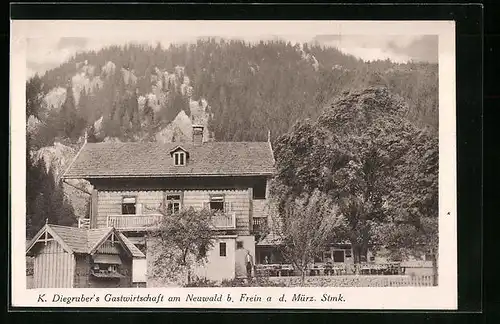
[(197, 274), (223, 280), (246, 276), (247, 251), (255, 260), (273, 172), (270, 142), (206, 142), (195, 125), (189, 143), (85, 143), (63, 179), (93, 185), (81, 226), (113, 227), (146, 255), (146, 227), (162, 208), (218, 211), (214, 248)]

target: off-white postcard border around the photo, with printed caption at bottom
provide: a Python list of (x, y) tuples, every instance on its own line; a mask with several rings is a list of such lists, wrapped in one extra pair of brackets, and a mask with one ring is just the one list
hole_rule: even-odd
[[(146, 33), (151, 39), (188, 36), (245, 36), (316, 34), (350, 35), (438, 35), (439, 36), (439, 286), (398, 288), (155, 288), (155, 289), (26, 289), (25, 277), (25, 74), (26, 39), (58, 37), (98, 37), (132, 39)], [(199, 31), (203, 31), (200, 35)], [(165, 32), (167, 31), (167, 32)], [(455, 130), (455, 23), (453, 21), (11, 21), (11, 263), (12, 305), (34, 307), (165, 307), (165, 308), (307, 308), (307, 309), (457, 309), (457, 223), (456, 223), (456, 130)], [(450, 215), (447, 215), (447, 213)], [(188, 293), (209, 296), (241, 293), (272, 296), (260, 303), (106, 303), (106, 293), (125, 296), (140, 293), (152, 296), (179, 296)], [(40, 293), (51, 296), (101, 296), (93, 303), (37, 303)], [(279, 302), (285, 293), (316, 296), (342, 293), (344, 303)], [(225, 298), (225, 297), (224, 297)], [(50, 298), (49, 298), (50, 299)]]

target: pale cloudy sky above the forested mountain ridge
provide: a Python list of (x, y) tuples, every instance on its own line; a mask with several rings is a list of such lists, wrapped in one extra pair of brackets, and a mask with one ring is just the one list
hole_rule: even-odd
[[(275, 39), (277, 36), (235, 37), (245, 41)], [(324, 46), (337, 47), (344, 53), (363, 60), (390, 59), (394, 62), (426, 61), (437, 63), (438, 37), (436, 35), (295, 35), (279, 38), (295, 42), (317, 42)], [(27, 77), (43, 74), (68, 60), (77, 52), (99, 50), (109, 45), (124, 45), (128, 42), (169, 46), (172, 43), (195, 41), (195, 36), (170, 36), (166, 38), (130, 37), (39, 37), (27, 39)]]

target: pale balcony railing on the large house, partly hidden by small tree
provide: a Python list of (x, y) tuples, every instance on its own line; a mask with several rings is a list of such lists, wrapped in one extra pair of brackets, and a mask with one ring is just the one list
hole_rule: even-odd
[[(144, 231), (155, 225), (162, 214), (108, 215), (107, 226), (121, 231)], [(236, 229), (236, 213), (218, 213), (212, 218), (214, 230)]]

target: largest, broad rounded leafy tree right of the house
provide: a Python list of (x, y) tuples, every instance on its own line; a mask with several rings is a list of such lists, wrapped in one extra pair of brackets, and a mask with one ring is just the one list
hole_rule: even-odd
[[(420, 223), (437, 215), (437, 205), (431, 203), (437, 201), (432, 189), (437, 168), (422, 163), (420, 158), (428, 156), (417, 155), (424, 148), (437, 154), (432, 153), (437, 144), (431, 133), (422, 136), (422, 129), (406, 119), (407, 111), (404, 101), (386, 88), (345, 93), (315, 122), (297, 123), (275, 144), (276, 181), (286, 188), (285, 196), (296, 198), (315, 189), (327, 194), (345, 224), (332, 236), (351, 242), (356, 263), (368, 246), (391, 243), (379, 225), (394, 224), (394, 215), (405, 211)], [(425, 233), (436, 235), (437, 228)], [(405, 247), (416, 248), (412, 243)]]

